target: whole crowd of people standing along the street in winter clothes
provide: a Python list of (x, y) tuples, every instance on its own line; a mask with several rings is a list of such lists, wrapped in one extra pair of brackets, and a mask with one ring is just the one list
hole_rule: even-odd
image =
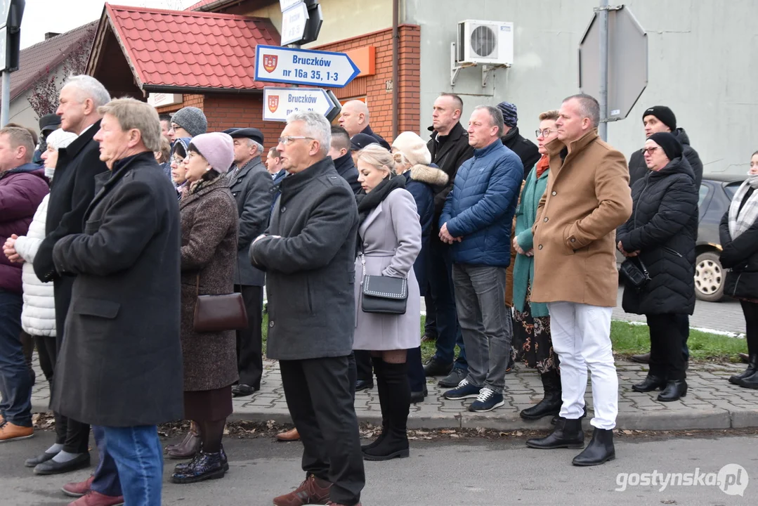
[[(92, 476), (64, 486), (71, 504), (160, 504), (164, 453), (186, 460), (172, 482), (222, 478), (232, 398), (262, 388), (265, 286), (266, 354), (295, 425), (277, 437), (302, 441), (305, 471), (277, 506), (359, 504), (364, 460), (409, 456), (427, 377), (483, 413), (505, 404), (514, 362), (537, 369), (544, 391), (521, 416), (555, 425), (528, 447), (582, 449), (577, 466), (615, 458), (616, 251), (623, 307), (650, 328), (650, 355), (635, 358), (650, 372), (633, 388), (676, 401), (688, 393), (702, 163), (665, 106), (644, 112), (629, 164), (598, 137), (591, 96), (534, 118), (537, 144), (512, 103), (476, 106), (468, 127), (462, 110), (442, 93), (430, 140), (392, 143), (362, 101), (339, 126), (295, 112), (267, 151), (256, 128), (208, 132), (199, 108), (158, 115), (70, 77), (39, 143), (0, 130), (0, 442), (33, 435), (33, 343), (56, 437), (25, 465), (89, 467), (90, 429), (99, 448)], [(745, 388), (758, 388), (756, 187), (758, 152), (720, 226), (749, 349), (729, 381)], [(422, 338), (436, 341), (425, 364)], [(361, 445), (356, 391), (374, 381), (381, 433)], [(189, 432), (161, 448), (157, 426), (174, 420)]]

